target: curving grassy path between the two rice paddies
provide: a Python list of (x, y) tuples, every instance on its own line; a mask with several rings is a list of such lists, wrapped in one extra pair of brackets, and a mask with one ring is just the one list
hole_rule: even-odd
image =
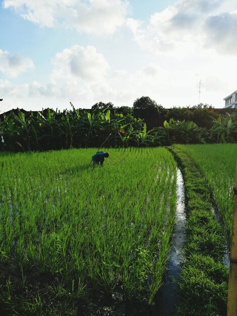
[(212, 214), (209, 188), (198, 166), (175, 146), (186, 199), (186, 242), (176, 316), (226, 315), (228, 269), (223, 264), (225, 234)]

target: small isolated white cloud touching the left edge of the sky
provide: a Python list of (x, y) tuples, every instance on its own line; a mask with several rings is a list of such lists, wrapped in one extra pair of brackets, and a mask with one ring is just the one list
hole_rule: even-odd
[(7, 77), (15, 78), (20, 73), (34, 69), (34, 63), (30, 58), (21, 57), (18, 54), (10, 54), (0, 49), (0, 71)]

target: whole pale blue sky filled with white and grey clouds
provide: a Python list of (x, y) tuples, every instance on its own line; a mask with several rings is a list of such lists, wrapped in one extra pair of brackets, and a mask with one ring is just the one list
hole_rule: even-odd
[(0, 112), (223, 108), (237, 90), (237, 1), (0, 0)]

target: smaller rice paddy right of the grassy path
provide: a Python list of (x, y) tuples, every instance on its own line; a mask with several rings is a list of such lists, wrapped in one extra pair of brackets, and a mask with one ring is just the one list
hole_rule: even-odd
[(233, 186), (237, 159), (237, 144), (175, 145), (186, 152), (199, 166), (213, 193), (227, 230), (232, 231)]

